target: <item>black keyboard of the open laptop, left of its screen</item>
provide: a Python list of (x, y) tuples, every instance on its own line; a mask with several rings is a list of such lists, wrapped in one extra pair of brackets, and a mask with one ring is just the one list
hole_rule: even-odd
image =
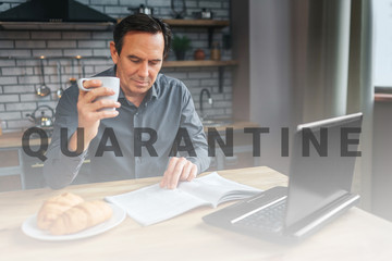
[(235, 226), (278, 233), (283, 228), (286, 197), (253, 210), (231, 221)]

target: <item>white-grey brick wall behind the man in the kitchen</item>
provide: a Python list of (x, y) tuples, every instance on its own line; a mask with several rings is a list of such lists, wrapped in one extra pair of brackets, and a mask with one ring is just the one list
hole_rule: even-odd
[[(12, 3), (14, 2), (14, 3)], [(24, 2), (9, 0), (0, 5), (0, 12)], [(172, 18), (170, 0), (79, 0), (100, 12), (114, 18), (123, 17), (132, 12), (128, 7), (137, 8), (140, 3), (154, 8), (154, 14), (162, 18)], [(131, 2), (131, 3), (130, 3)], [(215, 12), (217, 20), (228, 20), (230, 15), (230, 0), (186, 0), (187, 15), (200, 11), (201, 8)], [(186, 54), (193, 59), (193, 51), (197, 48), (205, 50), (209, 59), (207, 28), (172, 28), (176, 35), (187, 35), (192, 39), (193, 50)], [(213, 41), (222, 46), (223, 34), (229, 28), (216, 30)], [(66, 30), (0, 30), (0, 120), (3, 132), (24, 130), (34, 124), (26, 117), (37, 107), (47, 104), (56, 108), (58, 97), (56, 91), (62, 86), (70, 86), (71, 77), (83, 74), (91, 76), (112, 65), (109, 52), (111, 32), (66, 32)], [(45, 78), (40, 72), (40, 55), (45, 55)], [(90, 59), (75, 59), (76, 55), (93, 57)], [(222, 49), (222, 60), (231, 59), (231, 51)], [(170, 52), (169, 60), (174, 60)], [(58, 63), (61, 65), (61, 82), (58, 74)], [(84, 70), (82, 70), (82, 67)], [(204, 104), (205, 112), (210, 117), (230, 117), (232, 115), (232, 69), (226, 67), (223, 74), (223, 92), (218, 91), (218, 67), (162, 69), (162, 73), (182, 79), (189, 88), (196, 109), (199, 108), (199, 92), (208, 88), (213, 98), (213, 104)], [(42, 80), (51, 89), (48, 97), (38, 97), (36, 88)], [(47, 112), (49, 113), (49, 112)]]

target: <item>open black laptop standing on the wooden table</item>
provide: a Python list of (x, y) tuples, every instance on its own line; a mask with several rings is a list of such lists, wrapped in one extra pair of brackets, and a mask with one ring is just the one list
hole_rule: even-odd
[(287, 187), (273, 187), (203, 217), (210, 225), (279, 241), (308, 237), (351, 207), (363, 114), (297, 126)]

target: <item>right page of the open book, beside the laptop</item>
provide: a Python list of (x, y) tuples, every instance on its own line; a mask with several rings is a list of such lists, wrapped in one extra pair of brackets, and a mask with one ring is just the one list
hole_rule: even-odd
[(260, 192), (260, 189), (249, 187), (220, 176), (217, 172), (195, 178), (193, 182), (183, 182), (179, 188), (196, 198), (218, 204), (235, 199), (244, 199)]

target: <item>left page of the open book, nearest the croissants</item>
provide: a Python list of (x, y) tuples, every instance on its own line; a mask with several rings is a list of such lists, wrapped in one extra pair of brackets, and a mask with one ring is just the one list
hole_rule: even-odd
[(105, 199), (124, 209), (130, 217), (144, 226), (210, 204), (179, 188), (166, 189), (159, 184)]

